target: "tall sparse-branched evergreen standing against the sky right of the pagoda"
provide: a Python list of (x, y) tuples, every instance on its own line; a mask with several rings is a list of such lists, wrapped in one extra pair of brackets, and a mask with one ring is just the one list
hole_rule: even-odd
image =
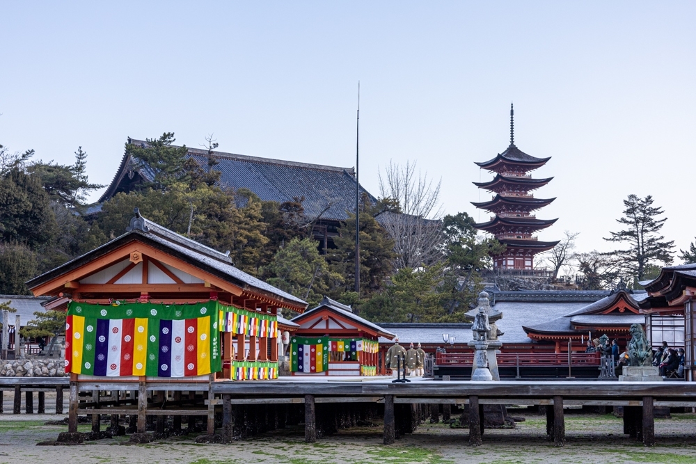
[(624, 271), (635, 275), (639, 281), (644, 279), (648, 264), (670, 264), (674, 253), (674, 241), (665, 241), (659, 234), (667, 218), (658, 218), (664, 211), (652, 206), (653, 202), (651, 195), (645, 198), (628, 195), (624, 200), (624, 217), (617, 219), (626, 229), (610, 232), (611, 237), (605, 238), (606, 241), (628, 243), (628, 248), (609, 255), (619, 258)]

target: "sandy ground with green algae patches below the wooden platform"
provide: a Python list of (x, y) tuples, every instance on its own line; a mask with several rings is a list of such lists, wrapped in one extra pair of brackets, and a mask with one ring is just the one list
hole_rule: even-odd
[[(315, 445), (303, 442), (303, 429), (276, 431), (232, 445), (198, 445), (192, 437), (169, 438), (148, 445), (125, 445), (126, 438), (78, 446), (38, 447), (66, 426), (46, 426), (56, 415), (0, 416), (0, 463), (696, 463), (696, 415), (656, 420), (658, 445), (643, 447), (622, 435), (622, 421), (612, 415), (566, 416), (567, 444), (545, 438), (544, 417), (533, 413), (514, 430), (486, 430), (484, 444), (467, 445), (464, 429), (425, 424), (416, 433), (381, 445), (381, 424), (341, 431)], [(65, 416), (62, 416), (65, 417)], [(102, 429), (105, 427), (102, 426)], [(90, 426), (80, 426), (88, 431)]]

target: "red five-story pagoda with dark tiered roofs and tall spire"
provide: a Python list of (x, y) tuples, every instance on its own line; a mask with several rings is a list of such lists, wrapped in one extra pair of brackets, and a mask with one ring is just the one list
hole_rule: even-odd
[(510, 106), (510, 146), (505, 152), (484, 163), (480, 168), (496, 173), (489, 182), (474, 182), (480, 189), (494, 193), (487, 202), (471, 202), (477, 208), (495, 214), (491, 221), (475, 227), (493, 234), (500, 243), (507, 245), (505, 252), (493, 257), (496, 271), (531, 271), (534, 256), (551, 250), (557, 241), (539, 241), (533, 234), (545, 229), (557, 219), (537, 219), (533, 211), (543, 208), (555, 198), (534, 198), (531, 193), (548, 184), (553, 177), (533, 179), (530, 172), (541, 168), (549, 158), (532, 157), (514, 144), (514, 110)]

